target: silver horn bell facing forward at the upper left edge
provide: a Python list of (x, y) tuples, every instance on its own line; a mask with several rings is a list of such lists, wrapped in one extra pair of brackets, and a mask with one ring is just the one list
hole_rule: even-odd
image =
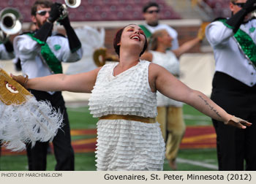
[(18, 9), (7, 7), (0, 12), (0, 42), (21, 30), (21, 15)]

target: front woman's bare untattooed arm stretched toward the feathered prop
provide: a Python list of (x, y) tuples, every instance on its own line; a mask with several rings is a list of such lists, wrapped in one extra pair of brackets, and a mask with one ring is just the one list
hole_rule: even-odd
[[(24, 87), (39, 91), (70, 91), (91, 93), (100, 68), (80, 74), (52, 74), (46, 77), (36, 77), (26, 81)], [(11, 74), (18, 83), (18, 77)]]

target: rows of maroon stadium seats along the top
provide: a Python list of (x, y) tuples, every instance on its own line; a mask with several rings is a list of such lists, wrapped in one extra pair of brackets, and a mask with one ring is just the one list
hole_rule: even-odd
[[(53, 0), (54, 1), (54, 0)], [(64, 4), (64, 0), (56, 0)], [(80, 7), (69, 8), (69, 19), (72, 21), (97, 20), (143, 20), (142, 7), (149, 0), (82, 0)], [(0, 10), (4, 7), (15, 7), (23, 15), (24, 22), (30, 22), (31, 4), (34, 0), (4, 0)], [(165, 0), (157, 0), (161, 7), (161, 19), (180, 19), (181, 16), (166, 4)]]

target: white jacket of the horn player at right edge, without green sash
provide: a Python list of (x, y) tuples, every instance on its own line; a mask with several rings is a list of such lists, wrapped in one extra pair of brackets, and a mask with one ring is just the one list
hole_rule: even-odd
[[(240, 26), (256, 42), (256, 20)], [(233, 30), (221, 21), (214, 21), (206, 27), (206, 38), (214, 49), (217, 72), (223, 72), (248, 86), (256, 84), (256, 70), (238, 45)], [(255, 53), (256, 54), (256, 53)]]

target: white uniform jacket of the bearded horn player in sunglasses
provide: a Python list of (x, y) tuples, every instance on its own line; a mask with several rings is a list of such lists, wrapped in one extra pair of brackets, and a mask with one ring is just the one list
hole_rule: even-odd
[[(59, 61), (75, 62), (82, 58), (82, 48), (75, 51), (75, 53), (71, 53), (66, 37), (51, 36), (48, 37), (46, 42)], [(16, 56), (20, 58), (23, 74), (27, 74), (29, 78), (44, 77), (52, 74), (40, 56), (41, 46), (31, 39), (29, 35), (22, 34), (15, 37), (13, 45)]]

